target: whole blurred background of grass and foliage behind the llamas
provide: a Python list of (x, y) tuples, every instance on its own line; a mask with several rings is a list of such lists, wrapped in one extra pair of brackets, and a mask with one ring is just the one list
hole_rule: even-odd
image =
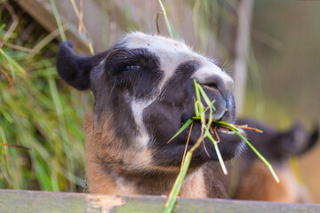
[[(61, 36), (52, 3), (67, 39), (86, 54), (91, 43), (93, 51), (105, 51), (132, 30), (157, 34), (157, 16), (161, 35), (169, 36), (157, 0), (0, 0), (0, 188), (84, 190), (84, 114), (93, 99), (56, 73)], [(163, 3), (173, 36), (234, 75), (239, 115), (279, 129), (296, 119), (309, 128), (320, 121), (320, 2)], [(235, 76), (237, 59), (244, 59), (244, 80)], [(317, 162), (319, 146), (300, 159), (300, 170), (320, 202)]]

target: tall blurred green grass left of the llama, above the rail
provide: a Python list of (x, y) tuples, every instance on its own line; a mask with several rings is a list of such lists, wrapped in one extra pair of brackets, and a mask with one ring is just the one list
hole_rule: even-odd
[[(48, 40), (44, 28), (21, 11), (18, 20), (4, 8), (0, 14), (0, 143), (29, 148), (0, 146), (0, 188), (79, 190), (84, 108), (92, 97), (60, 83), (58, 41)], [(13, 30), (12, 21), (17, 21)], [(39, 43), (43, 48), (35, 50)], [(31, 52), (16, 50), (20, 47)]]

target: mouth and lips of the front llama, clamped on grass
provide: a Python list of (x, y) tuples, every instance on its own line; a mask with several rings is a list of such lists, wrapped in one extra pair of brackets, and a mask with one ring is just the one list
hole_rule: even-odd
[[(224, 97), (221, 95), (216, 85), (205, 84), (201, 85), (204, 89), (205, 96), (200, 97), (201, 103), (203, 105), (203, 110), (205, 111), (206, 121), (204, 125), (207, 126), (210, 120), (212, 121), (210, 125), (210, 134), (211, 137), (217, 141), (221, 142), (218, 144), (220, 149), (220, 154), (224, 160), (228, 160), (235, 156), (237, 153), (238, 147), (243, 144), (243, 139), (238, 136), (238, 133), (243, 133), (243, 130), (234, 128), (234, 123), (236, 122), (236, 105), (233, 95), (230, 94), (228, 97)], [(199, 98), (198, 98), (199, 99)], [(209, 99), (209, 100), (208, 100)], [(213, 100), (213, 101), (212, 101)], [(209, 106), (209, 103), (212, 102), (212, 107)], [(203, 129), (203, 123), (199, 119), (200, 116), (196, 111), (196, 106), (188, 105), (185, 113), (181, 115), (181, 123), (180, 128), (186, 123), (190, 118), (193, 119), (194, 125), (188, 130), (190, 131), (190, 140), (188, 146), (193, 146), (198, 138), (201, 136), (201, 132)], [(210, 110), (209, 110), (210, 109)], [(236, 131), (235, 131), (236, 130)], [(184, 138), (188, 137), (188, 134), (184, 135)], [(181, 146), (185, 146), (186, 142), (182, 139), (180, 141)], [(204, 138), (204, 146), (206, 148), (199, 149), (199, 153), (203, 154), (204, 158), (209, 157), (209, 159), (217, 160), (217, 154), (215, 151), (215, 147), (212, 144), (212, 139)], [(206, 149), (206, 150), (205, 150)], [(204, 152), (205, 151), (205, 152)]]

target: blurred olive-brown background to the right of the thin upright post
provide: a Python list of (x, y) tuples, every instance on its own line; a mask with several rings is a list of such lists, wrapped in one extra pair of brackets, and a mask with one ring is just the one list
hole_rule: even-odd
[(320, 121), (320, 2), (255, 2), (244, 112), (282, 128)]

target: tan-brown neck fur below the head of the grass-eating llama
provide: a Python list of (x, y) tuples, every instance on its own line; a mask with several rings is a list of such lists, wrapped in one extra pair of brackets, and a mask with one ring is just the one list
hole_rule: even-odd
[[(134, 147), (122, 147), (121, 141), (116, 143), (118, 139), (115, 138), (108, 121), (105, 119), (104, 122), (96, 124), (92, 112), (85, 115), (85, 159), (89, 191), (117, 195), (168, 195), (179, 170), (164, 171), (163, 168), (153, 167), (150, 165), (151, 156), (148, 150), (139, 152)], [(136, 168), (132, 168), (132, 164)], [(150, 178), (142, 171), (136, 171), (146, 169), (147, 166), (154, 170)], [(204, 171), (207, 172), (205, 167), (187, 175), (180, 196), (206, 198), (214, 194), (215, 197), (225, 197), (225, 193), (212, 192), (214, 185), (208, 188), (205, 186), (208, 176), (204, 179)]]

